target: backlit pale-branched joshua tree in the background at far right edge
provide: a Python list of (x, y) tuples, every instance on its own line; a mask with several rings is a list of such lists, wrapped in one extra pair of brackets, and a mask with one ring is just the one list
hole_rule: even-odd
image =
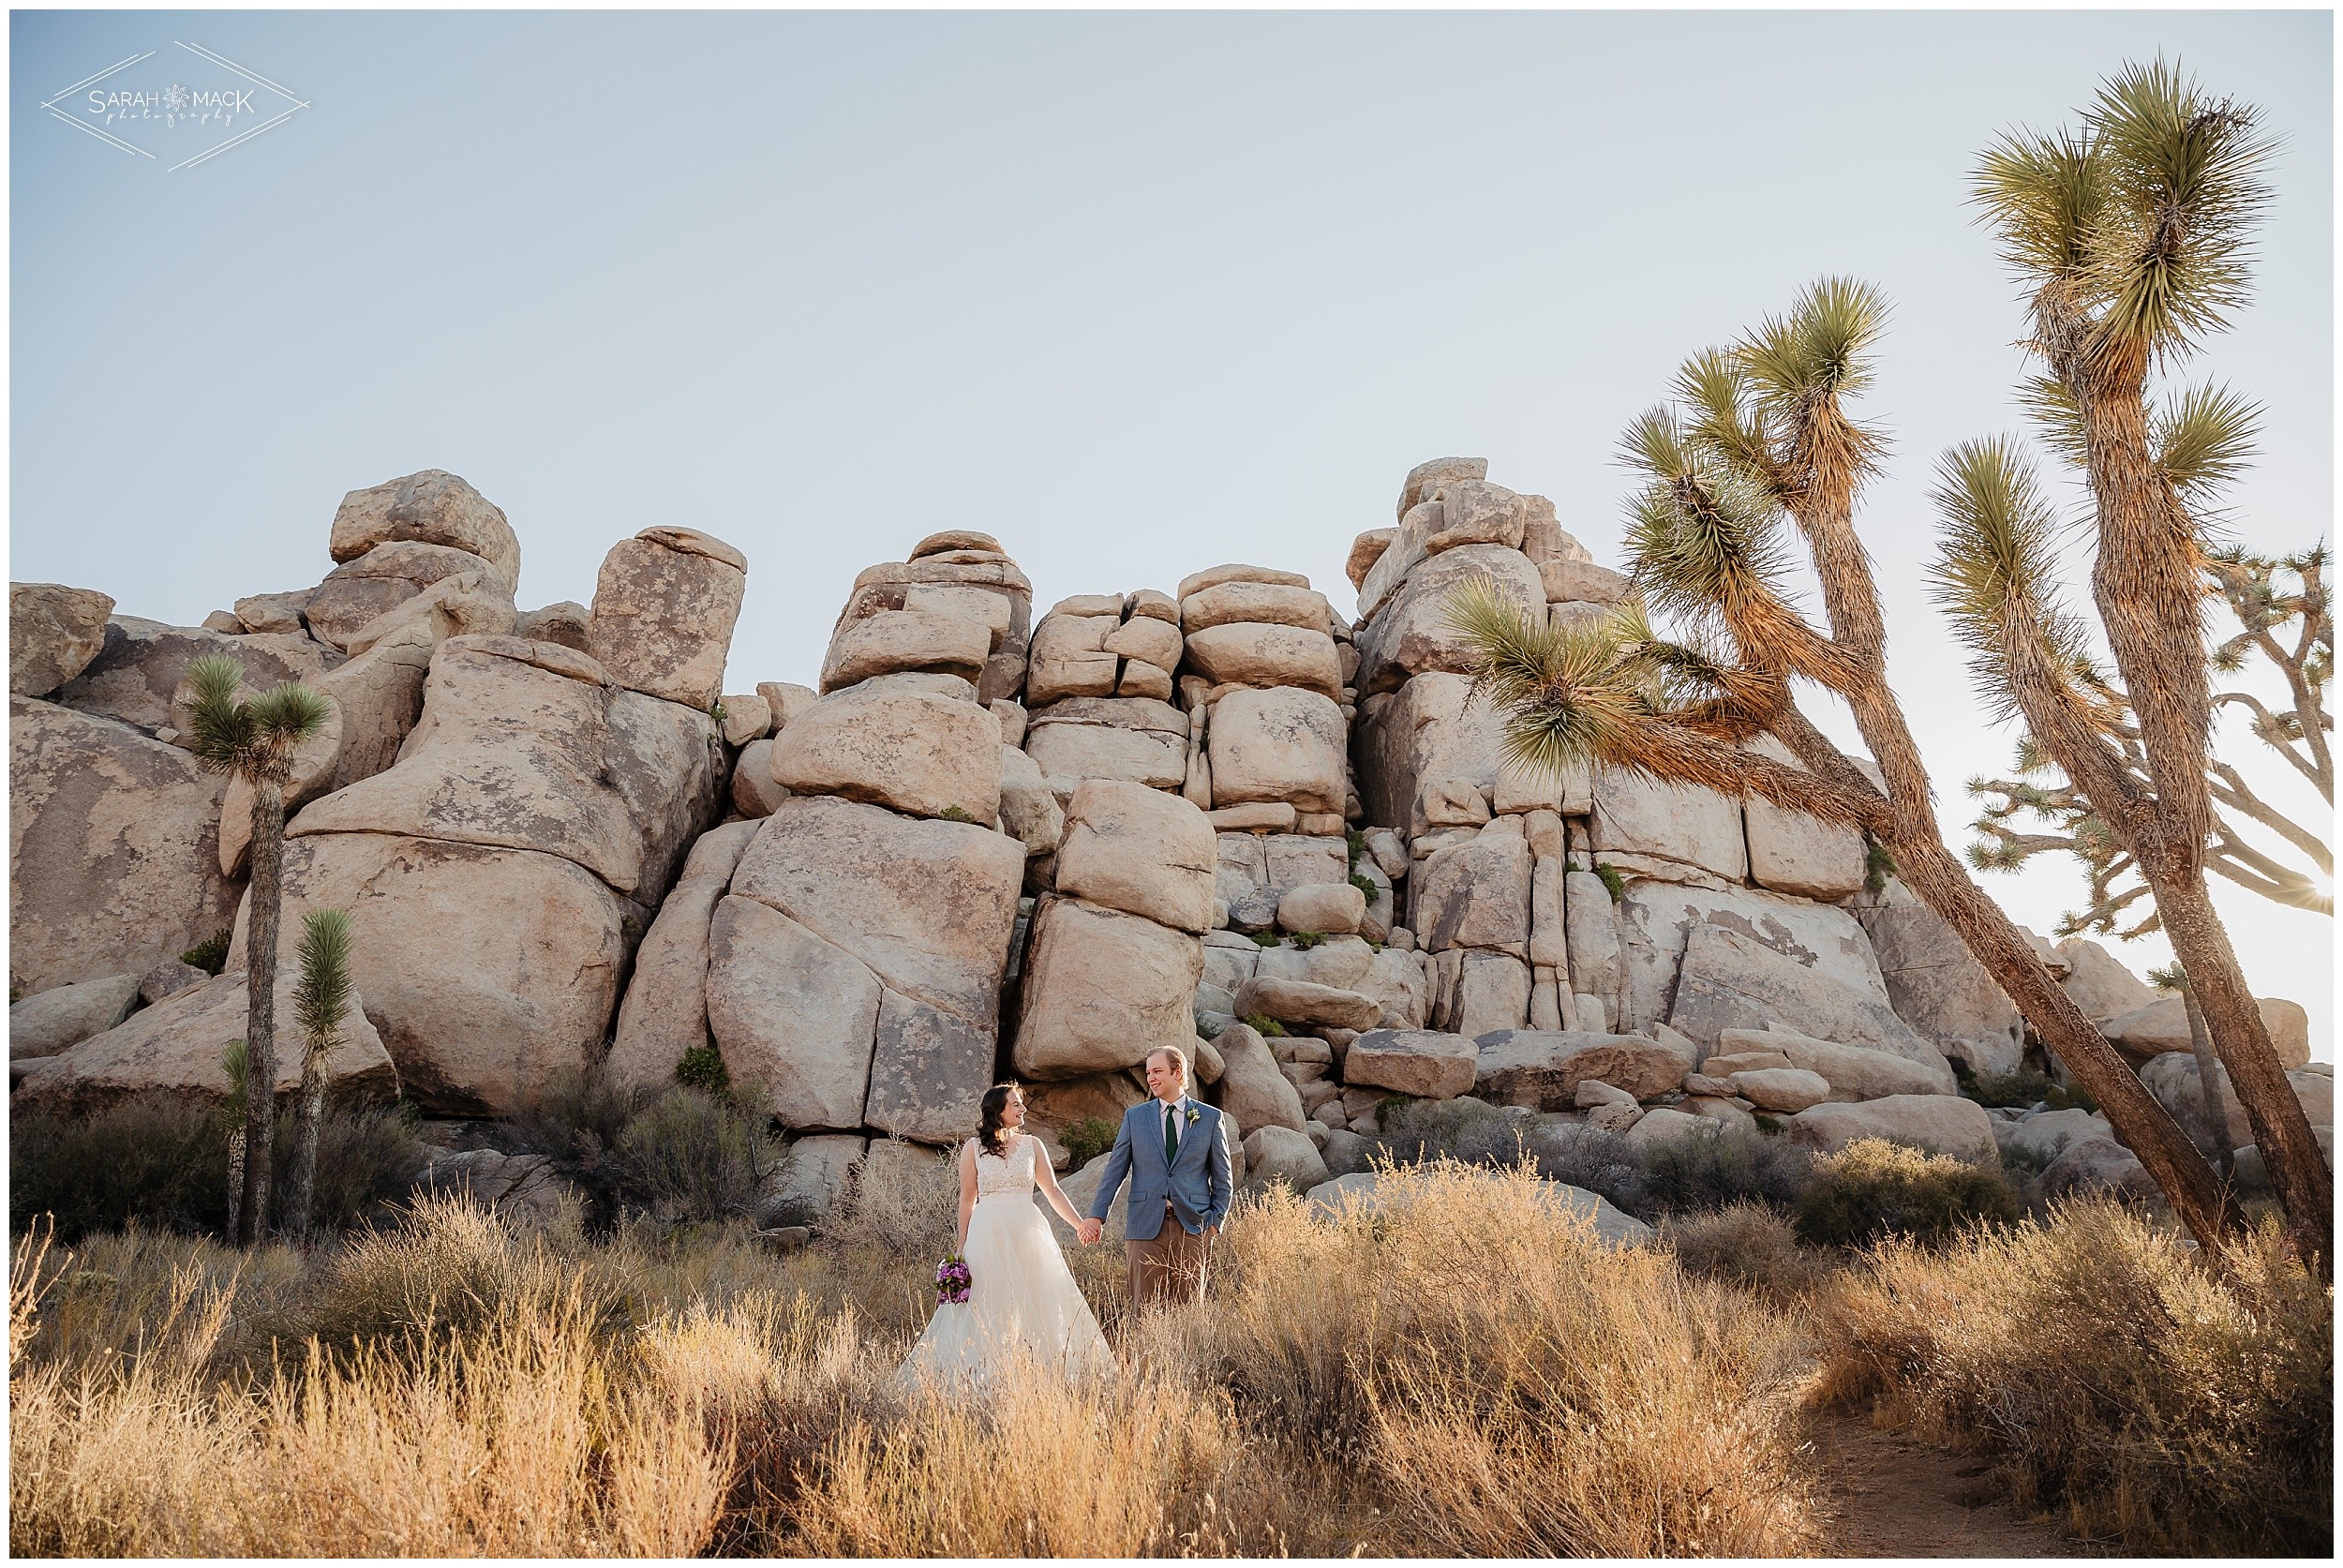
[[(2327, 677), (2334, 670), (2334, 621), (2327, 609), (2324, 567), (2324, 546), (2284, 560), (2226, 548), (2214, 551), (2207, 563), (2240, 626), (2238, 635), (2214, 649), (2212, 668), (2221, 675), (2235, 675), (2254, 661), (2254, 654), (2261, 654), (2280, 670), (2289, 694), (2287, 703), (2270, 708), (2245, 689), (2214, 691), (2214, 708), (2245, 710), (2254, 738), (2284, 757), (2331, 806), (2334, 759), (2327, 750), (2327, 731), (2334, 729), (2334, 717), (2327, 713)], [(2294, 574), (2291, 588), (2280, 584), (2280, 572)], [(2090, 680), (2109, 694), (2113, 710), (2106, 738), (2120, 752), (2123, 769), (2132, 773), (2139, 790), (2153, 792), (2139, 727), (2132, 722), (2130, 698), (2120, 682), (2109, 680), (2104, 670), (2078, 670), (2076, 677)], [(2334, 914), (2334, 895), (2324, 893), (2317, 881), (2320, 877), (2331, 879), (2336, 870), (2327, 841), (2256, 795), (2233, 762), (2214, 755), (2207, 759), (2207, 769), (2212, 773), (2205, 783), (2214, 802), (2214, 837), (2205, 846), (2205, 867), (2273, 902)], [(1985, 813), (1970, 823), (1980, 834), (1968, 848), (1970, 865), (1980, 872), (2015, 872), (2034, 855), (2071, 853), (2090, 877), (2090, 905), (2067, 914), (2059, 935), (2097, 930), (2130, 940), (2156, 930), (2160, 921), (2153, 902), (2134, 926), (2116, 930), (2118, 919), (2130, 919), (2125, 912), (2149, 895), (2149, 884), (2139, 879), (2137, 858), (2116, 841), (2099, 813), (2092, 811), (2090, 799), (2071, 780), (2036, 783), (2038, 776), (2055, 771), (2057, 764), (2041, 743), (2024, 736), (2017, 743), (2015, 778), (1973, 778), (1968, 783), (1970, 795), (1989, 802)], [(2050, 832), (2015, 827), (2013, 818), (2020, 813), (2041, 818)], [(2247, 839), (2247, 823), (2284, 839), (2284, 846), (2256, 846)]]

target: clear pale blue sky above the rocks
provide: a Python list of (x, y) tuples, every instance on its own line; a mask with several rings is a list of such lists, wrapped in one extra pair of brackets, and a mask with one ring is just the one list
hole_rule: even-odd
[[(314, 108), (180, 171), (40, 110), (180, 40)], [(947, 525), (1038, 607), (1218, 560), (1347, 607), (1350, 539), (1450, 452), (1617, 560), (1626, 420), (1851, 272), (1895, 300), (1863, 525), (1961, 823), (2008, 736), (1921, 598), (1926, 476), (2017, 427), (2022, 368), (1966, 171), (2158, 52), (2284, 136), (2198, 373), (2268, 405), (2235, 532), (2298, 548), (2334, 485), (2327, 14), (16, 12), (9, 577), (192, 623), (314, 584), (344, 490), (440, 466), (511, 516), (525, 607), (649, 523), (747, 551), (731, 689), (808, 680), (853, 574)], [(2048, 928), (2078, 879), (1989, 886)], [(2224, 905), (2331, 1059), (2331, 923)]]

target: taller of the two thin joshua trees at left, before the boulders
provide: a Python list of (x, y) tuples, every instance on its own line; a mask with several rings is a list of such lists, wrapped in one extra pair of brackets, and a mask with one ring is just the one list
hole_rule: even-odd
[(187, 734), (194, 759), (253, 785), (253, 879), (246, 938), (251, 1092), (244, 1104), (244, 1195), (237, 1242), (255, 1247), (269, 1226), (269, 1146), (276, 1132), (276, 923), (284, 905), (286, 780), (293, 748), (323, 727), (326, 698), (288, 680), (241, 696), (244, 668), (223, 654), (187, 661), (194, 689)]

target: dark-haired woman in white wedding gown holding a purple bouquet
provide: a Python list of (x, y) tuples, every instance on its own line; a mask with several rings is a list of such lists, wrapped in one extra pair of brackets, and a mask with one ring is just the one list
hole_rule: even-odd
[(940, 1305), (904, 1357), (900, 1380), (984, 1376), (1012, 1359), (1059, 1366), (1066, 1376), (1115, 1376), (1115, 1357), (1089, 1315), (1050, 1221), (1033, 1207), (1033, 1186), (1059, 1219), (1080, 1216), (1024, 1132), (1024, 1095), (1015, 1083), (984, 1092), (977, 1137), (961, 1146), (961, 1256), (968, 1301)]

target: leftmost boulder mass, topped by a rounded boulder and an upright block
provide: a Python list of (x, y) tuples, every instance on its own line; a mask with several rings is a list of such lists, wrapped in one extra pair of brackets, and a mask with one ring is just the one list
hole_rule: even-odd
[[(694, 530), (644, 530), (609, 553), (583, 621), (537, 612), (574, 628), (553, 642), (513, 635), (530, 621), (513, 609), (520, 544), (450, 473), (351, 492), (330, 553), (344, 565), (319, 588), (239, 600), (206, 628), (108, 621), (56, 703), (26, 715), (12, 788), (42, 809), (19, 806), (12, 982), (164, 973), (230, 919), (237, 938), (227, 975), (12, 1069), (21, 1092), (77, 1099), (138, 1073), (225, 1092), (251, 799), (173, 745), (185, 666), (209, 652), (244, 663), (253, 689), (298, 677), (328, 698), (286, 790), (279, 973), (302, 912), (354, 912), (361, 1038), (396, 1064), (361, 1076), (426, 1111), (494, 1116), (600, 1059), (633, 947), (715, 818), (724, 752), (705, 708), (745, 558)], [(28, 745), (47, 736), (70, 750)], [(141, 834), (169, 853), (136, 853)], [(131, 874), (112, 870), (124, 848)], [(59, 877), (26, 874), (37, 867)]]

